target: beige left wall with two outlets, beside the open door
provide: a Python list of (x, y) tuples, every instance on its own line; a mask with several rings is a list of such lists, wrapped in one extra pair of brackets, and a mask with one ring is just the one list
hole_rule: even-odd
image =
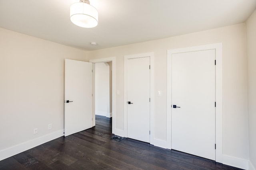
[(86, 51), (0, 28), (0, 151), (63, 131), (64, 59), (88, 61)]

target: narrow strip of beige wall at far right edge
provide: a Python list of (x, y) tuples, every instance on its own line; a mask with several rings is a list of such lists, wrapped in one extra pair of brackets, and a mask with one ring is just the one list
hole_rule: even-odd
[(256, 10), (246, 21), (250, 162), (256, 168)]

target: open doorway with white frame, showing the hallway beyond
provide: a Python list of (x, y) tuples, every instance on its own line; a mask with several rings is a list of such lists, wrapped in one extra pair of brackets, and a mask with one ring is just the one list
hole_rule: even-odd
[[(93, 126), (101, 123), (100, 119), (108, 119), (109, 128), (116, 134), (116, 58), (90, 60), (93, 63), (92, 74), (92, 117)], [(98, 68), (98, 69), (97, 69)], [(102, 73), (102, 70), (104, 73)], [(106, 71), (107, 70), (107, 71)], [(104, 74), (104, 75), (102, 75)], [(101, 84), (100, 84), (101, 83)], [(104, 90), (102, 92), (102, 90)], [(104, 94), (103, 94), (104, 93)], [(104, 120), (105, 121), (105, 120)], [(106, 123), (106, 122), (105, 122)]]

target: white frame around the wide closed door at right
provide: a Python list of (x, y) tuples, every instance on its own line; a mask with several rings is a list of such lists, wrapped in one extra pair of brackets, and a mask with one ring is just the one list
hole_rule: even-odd
[(222, 163), (222, 43), (167, 50), (167, 149), (172, 149), (172, 54), (215, 49), (216, 53), (216, 162)]

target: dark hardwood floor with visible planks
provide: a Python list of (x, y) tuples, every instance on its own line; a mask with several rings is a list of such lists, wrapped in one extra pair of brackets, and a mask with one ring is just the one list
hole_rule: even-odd
[(133, 139), (110, 139), (112, 119), (96, 116), (96, 126), (60, 137), (0, 161), (0, 170), (238, 170)]

